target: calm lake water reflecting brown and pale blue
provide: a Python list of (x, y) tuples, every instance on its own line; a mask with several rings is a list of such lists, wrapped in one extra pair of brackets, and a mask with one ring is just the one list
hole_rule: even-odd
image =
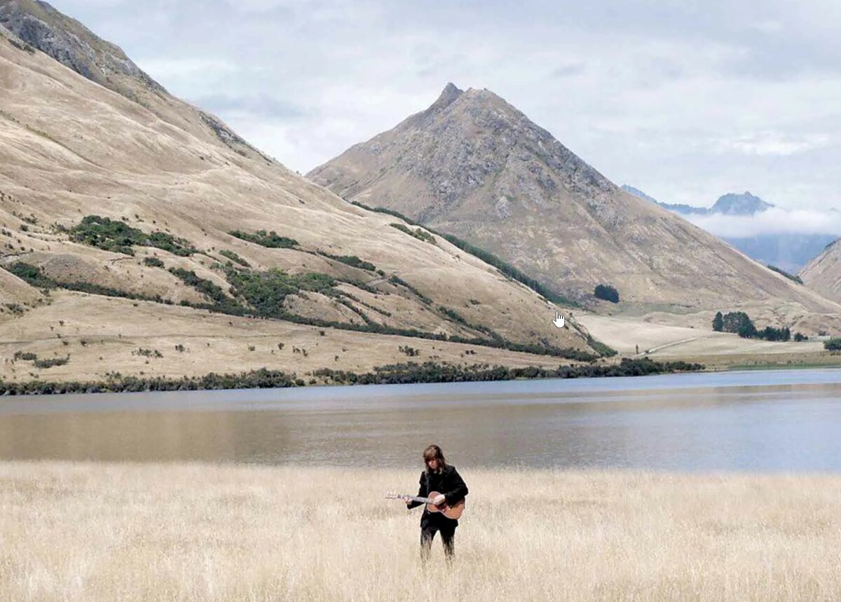
[(0, 459), (841, 472), (841, 370), (0, 398)]

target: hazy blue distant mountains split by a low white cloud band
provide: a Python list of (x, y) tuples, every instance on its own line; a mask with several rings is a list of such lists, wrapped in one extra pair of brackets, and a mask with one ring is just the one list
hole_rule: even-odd
[[(687, 216), (703, 215), (733, 215), (749, 216), (762, 213), (774, 207), (766, 203), (754, 194), (745, 192), (741, 194), (728, 193), (719, 197), (710, 208), (693, 207), (685, 204), (661, 203), (656, 198), (643, 193), (642, 190), (628, 186), (622, 186), (622, 190), (643, 198), (651, 203), (657, 203), (660, 207), (669, 211)], [(796, 274), (809, 261), (819, 255), (823, 249), (833, 242), (837, 237), (828, 234), (797, 234), (797, 233), (775, 233), (760, 234), (754, 236), (722, 236), (722, 240), (735, 246), (745, 255), (763, 263), (780, 267), (786, 272)]]

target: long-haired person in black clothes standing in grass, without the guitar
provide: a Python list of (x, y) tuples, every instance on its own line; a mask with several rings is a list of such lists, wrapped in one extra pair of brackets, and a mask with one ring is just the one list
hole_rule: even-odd
[[(441, 447), (436, 445), (427, 447), (423, 451), (423, 460), (426, 468), (421, 473), (419, 498), (426, 498), (431, 492), (437, 491), (441, 493), (433, 500), (433, 504), (436, 505), (447, 502), (447, 505), (452, 506), (464, 499), (464, 496), (468, 494), (468, 486), (464, 484), (456, 467), (447, 464)], [(421, 502), (410, 501), (406, 503), (406, 507), (412, 509), (421, 504)], [(423, 515), (421, 515), (421, 558), (425, 562), (429, 558), (432, 539), (436, 532), (440, 531), (444, 543), (444, 554), (447, 561), (451, 561), (455, 551), (453, 538), (456, 535), (457, 526), (458, 520), (448, 519), (441, 512), (430, 512), (424, 506)]]

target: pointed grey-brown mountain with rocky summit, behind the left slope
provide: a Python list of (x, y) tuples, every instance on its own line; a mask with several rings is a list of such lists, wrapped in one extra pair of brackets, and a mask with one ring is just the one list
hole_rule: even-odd
[(772, 298), (838, 307), (684, 219), (626, 193), (488, 90), (448, 84), (431, 107), (308, 176), (489, 249), (561, 294), (720, 308)]

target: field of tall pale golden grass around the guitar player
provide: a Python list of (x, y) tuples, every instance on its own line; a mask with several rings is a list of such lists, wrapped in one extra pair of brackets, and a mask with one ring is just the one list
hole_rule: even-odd
[(838, 477), (461, 472), (425, 570), (413, 470), (0, 464), (0, 599), (841, 598)]

